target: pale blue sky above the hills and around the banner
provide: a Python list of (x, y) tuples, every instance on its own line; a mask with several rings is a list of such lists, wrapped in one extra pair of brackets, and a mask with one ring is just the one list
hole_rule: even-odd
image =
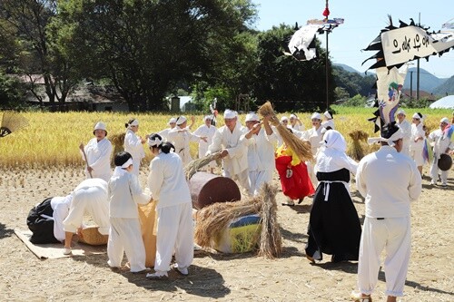
[[(271, 29), (279, 24), (295, 22), (301, 26), (309, 19), (322, 19), (325, 0), (252, 0), (258, 6), (259, 20), (255, 28), (261, 31)], [(329, 35), (329, 51), (333, 63), (345, 63), (359, 72), (365, 72), (373, 63), (372, 60), (361, 63), (374, 52), (361, 52), (380, 34), (380, 29), (388, 25), (388, 15), (393, 24), (399, 20), (415, 22), (430, 26), (430, 31), (438, 31), (441, 24), (454, 18), (453, 0), (330, 0), (330, 18), (341, 17), (345, 23), (334, 29)], [(325, 35), (318, 35), (322, 47)], [(433, 73), (439, 78), (454, 75), (454, 49), (442, 56), (430, 56), (429, 62), (419, 60), (420, 68)], [(416, 67), (416, 61), (413, 66)]]

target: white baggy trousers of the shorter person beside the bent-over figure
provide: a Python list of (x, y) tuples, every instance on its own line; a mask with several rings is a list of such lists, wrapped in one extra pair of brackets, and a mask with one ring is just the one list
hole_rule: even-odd
[(145, 247), (139, 219), (111, 218), (107, 256), (112, 268), (120, 268), (123, 254), (126, 252), (131, 272), (145, 269)]

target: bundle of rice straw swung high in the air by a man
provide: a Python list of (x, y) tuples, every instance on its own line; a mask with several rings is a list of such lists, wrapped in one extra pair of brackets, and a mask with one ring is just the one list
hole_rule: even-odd
[(270, 122), (276, 127), (284, 141), (292, 151), (298, 155), (301, 161), (313, 161), (311, 152), (311, 143), (309, 141), (301, 141), (298, 137), (288, 131), (287, 127), (279, 122), (274, 110), (272, 109), (271, 102), (265, 102), (257, 111), (262, 116), (270, 116)]

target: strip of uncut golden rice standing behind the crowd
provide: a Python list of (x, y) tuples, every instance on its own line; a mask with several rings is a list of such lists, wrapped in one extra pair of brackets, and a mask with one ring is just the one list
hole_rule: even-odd
[[(334, 116), (336, 129), (350, 141), (348, 133), (353, 131), (373, 133), (373, 125), (368, 119), (373, 117), (374, 108), (350, 108), (335, 107), (337, 114)], [(415, 112), (406, 110), (407, 119), (411, 122), (411, 115)], [(434, 130), (439, 126), (439, 120), (447, 116), (451, 117), (449, 110), (420, 111), (427, 115), (426, 126)], [(1, 112), (0, 112), (1, 113)], [(10, 135), (0, 138), (0, 167), (35, 167), (35, 166), (78, 166), (83, 165), (78, 146), (80, 142), (86, 143), (93, 138), (94, 124), (103, 121), (107, 124), (108, 135), (125, 132), (124, 123), (132, 117), (140, 122), (138, 134), (159, 132), (168, 127), (167, 122), (173, 116), (160, 113), (116, 113), (116, 112), (24, 112), (29, 126)], [(289, 116), (289, 112), (279, 113), (278, 116)], [(301, 122), (306, 129), (311, 127), (311, 112), (298, 113)], [(189, 118), (189, 116), (186, 116)], [(194, 131), (202, 125), (203, 115), (194, 115)], [(245, 114), (240, 116), (244, 124)], [(218, 116), (217, 126), (223, 124), (222, 112)], [(189, 122), (188, 122), (189, 124)], [(146, 148), (146, 146), (144, 146)], [(365, 150), (369, 148), (364, 146)], [(192, 143), (192, 157), (197, 154), (197, 144)], [(150, 161), (151, 154), (145, 150), (147, 157), (144, 163)]]

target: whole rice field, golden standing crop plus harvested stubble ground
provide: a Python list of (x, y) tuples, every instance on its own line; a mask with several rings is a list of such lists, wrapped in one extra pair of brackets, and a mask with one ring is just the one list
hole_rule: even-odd
[[(367, 121), (373, 108), (336, 107), (336, 128), (347, 141), (354, 131), (373, 133)], [(406, 110), (410, 121), (413, 110)], [(426, 125), (434, 130), (439, 120), (451, 118), (451, 111), (421, 110)], [(0, 138), (0, 301), (262, 301), (344, 302), (356, 289), (357, 262), (331, 263), (330, 256), (311, 264), (305, 258), (311, 199), (294, 207), (281, 205), (276, 195), (277, 223), (281, 230), (282, 253), (269, 259), (254, 252), (195, 254), (189, 276), (175, 270), (169, 279), (148, 280), (124, 267), (111, 270), (106, 253), (69, 258), (41, 259), (15, 236), (27, 229), (25, 219), (36, 203), (53, 196), (65, 196), (84, 180), (80, 141), (93, 137), (94, 124), (107, 123), (108, 137), (124, 132), (124, 123), (135, 117), (139, 134), (167, 127), (170, 114), (125, 114), (107, 112), (24, 112), (29, 126)], [(222, 114), (222, 112), (221, 112)], [(297, 113), (306, 129), (311, 112)], [(289, 116), (289, 112), (279, 113)], [(244, 122), (244, 115), (241, 121)], [(195, 115), (194, 130), (202, 124)], [(222, 125), (222, 117), (218, 118)], [(367, 146), (364, 145), (365, 151)], [(149, 151), (146, 151), (149, 154)], [(196, 145), (192, 145), (192, 155)], [(149, 156), (149, 155), (148, 155)], [(148, 175), (147, 157), (140, 180), (144, 188)], [(449, 170), (448, 187), (429, 184), (429, 166), (423, 168), (422, 193), (411, 205), (410, 267), (399, 301), (454, 301), (454, 170)], [(360, 221), (364, 201), (351, 180), (351, 197)], [(271, 185), (281, 188), (277, 173)], [(386, 190), (384, 188), (383, 190)], [(385, 301), (385, 273), (380, 269), (373, 301)]]

